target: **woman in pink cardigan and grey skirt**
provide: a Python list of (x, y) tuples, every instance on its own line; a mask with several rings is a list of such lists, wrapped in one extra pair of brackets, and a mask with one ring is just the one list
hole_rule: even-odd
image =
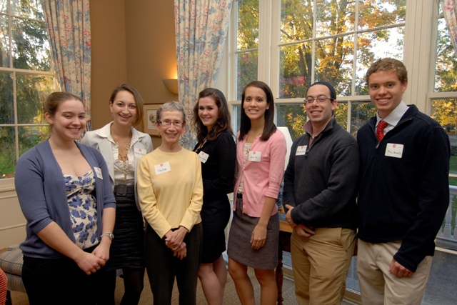
[(261, 304), (276, 304), (281, 185), (286, 139), (273, 123), (271, 89), (253, 81), (243, 89), (241, 126), (236, 143), (236, 203), (229, 234), (229, 273), (241, 304), (255, 304), (247, 274), (251, 266), (261, 286)]

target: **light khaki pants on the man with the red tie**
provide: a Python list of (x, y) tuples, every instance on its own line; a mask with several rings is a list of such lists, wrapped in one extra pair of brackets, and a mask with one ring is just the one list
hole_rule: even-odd
[(388, 269), (401, 241), (371, 244), (358, 240), (357, 274), (362, 304), (421, 304), (430, 274), (432, 256), (426, 256), (411, 277), (398, 277)]

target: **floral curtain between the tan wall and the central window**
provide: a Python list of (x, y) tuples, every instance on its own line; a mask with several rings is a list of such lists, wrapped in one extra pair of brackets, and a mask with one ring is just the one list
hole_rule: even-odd
[[(179, 101), (188, 123), (199, 92), (214, 86), (219, 73), (231, 4), (232, 0), (174, 0)], [(188, 124), (181, 145), (193, 149), (195, 142)]]

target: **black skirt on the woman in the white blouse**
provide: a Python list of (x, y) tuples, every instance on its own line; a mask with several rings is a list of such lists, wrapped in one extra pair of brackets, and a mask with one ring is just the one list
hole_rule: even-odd
[(116, 196), (114, 239), (106, 270), (144, 268), (144, 224), (135, 195)]

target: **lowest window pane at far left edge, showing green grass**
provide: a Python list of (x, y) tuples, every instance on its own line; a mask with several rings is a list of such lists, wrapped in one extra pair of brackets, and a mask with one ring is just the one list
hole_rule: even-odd
[(16, 146), (14, 127), (0, 126), (0, 178), (11, 178), (16, 171)]

